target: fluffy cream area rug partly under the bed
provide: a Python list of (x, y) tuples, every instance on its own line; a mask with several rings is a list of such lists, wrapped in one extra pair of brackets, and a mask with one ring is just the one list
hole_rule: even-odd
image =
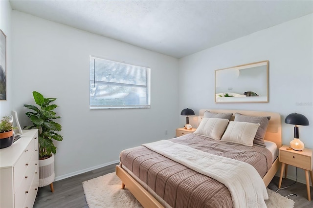
[[(115, 172), (83, 182), (89, 208), (142, 208), (127, 187), (121, 189)], [(268, 208), (293, 208), (294, 201), (268, 189)]]

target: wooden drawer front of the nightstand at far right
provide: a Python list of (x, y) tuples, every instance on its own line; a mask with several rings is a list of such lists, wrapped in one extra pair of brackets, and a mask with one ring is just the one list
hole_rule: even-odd
[(293, 152), (280, 151), (279, 161), (288, 165), (312, 170), (311, 157), (299, 155)]

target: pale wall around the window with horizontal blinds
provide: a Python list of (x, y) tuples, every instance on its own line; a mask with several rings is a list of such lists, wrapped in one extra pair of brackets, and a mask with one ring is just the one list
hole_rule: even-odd
[[(64, 140), (56, 143), (56, 179), (116, 162), (125, 148), (175, 136), (177, 59), (18, 11), (12, 21), (11, 96), (22, 125), (29, 122), (22, 105), (34, 104), (33, 90), (58, 98)], [(89, 55), (151, 67), (151, 108), (90, 110)]]

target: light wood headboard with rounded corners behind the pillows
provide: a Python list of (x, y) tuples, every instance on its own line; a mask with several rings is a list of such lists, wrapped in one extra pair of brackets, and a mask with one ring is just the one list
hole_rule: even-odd
[(250, 111), (250, 110), (224, 110), (224, 109), (201, 109), (199, 116), (202, 118), (204, 111), (210, 111), (213, 113), (232, 113), (233, 121), (236, 113), (240, 113), (247, 116), (270, 116), (268, 128), (265, 134), (264, 139), (274, 142), (277, 145), (277, 148), (282, 146), (282, 133), (281, 133), (281, 122), (279, 113), (273, 112), (264, 112), (264, 111)]

